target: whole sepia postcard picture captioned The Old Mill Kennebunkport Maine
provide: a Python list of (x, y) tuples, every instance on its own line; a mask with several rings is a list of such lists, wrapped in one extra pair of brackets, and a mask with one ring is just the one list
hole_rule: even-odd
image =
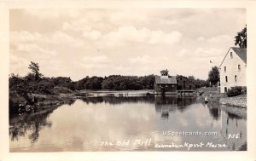
[(8, 152), (251, 151), (247, 8), (109, 6), (8, 10)]

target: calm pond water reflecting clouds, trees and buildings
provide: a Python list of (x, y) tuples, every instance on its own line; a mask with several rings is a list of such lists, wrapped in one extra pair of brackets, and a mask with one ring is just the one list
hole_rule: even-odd
[(246, 109), (188, 96), (88, 97), (9, 124), (10, 152), (247, 149)]

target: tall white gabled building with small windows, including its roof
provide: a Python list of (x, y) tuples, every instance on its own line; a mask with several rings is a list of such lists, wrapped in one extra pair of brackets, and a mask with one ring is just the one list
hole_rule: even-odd
[(225, 93), (231, 87), (247, 86), (246, 70), (247, 49), (230, 48), (219, 66), (220, 83), (218, 84), (218, 91)]

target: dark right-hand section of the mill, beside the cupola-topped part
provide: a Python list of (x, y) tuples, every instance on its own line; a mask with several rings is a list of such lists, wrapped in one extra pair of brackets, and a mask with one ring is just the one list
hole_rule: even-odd
[(195, 84), (183, 76), (177, 77), (177, 90), (195, 90)]

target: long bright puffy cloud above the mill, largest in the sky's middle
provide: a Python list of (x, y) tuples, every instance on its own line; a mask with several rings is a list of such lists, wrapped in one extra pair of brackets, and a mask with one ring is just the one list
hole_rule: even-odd
[(182, 40), (182, 33), (178, 31), (152, 31), (148, 28), (138, 29), (135, 26), (120, 26), (113, 32), (102, 34), (99, 31), (83, 32), (85, 39), (98, 40), (102, 47), (116, 47), (131, 43), (168, 44), (172, 45)]

